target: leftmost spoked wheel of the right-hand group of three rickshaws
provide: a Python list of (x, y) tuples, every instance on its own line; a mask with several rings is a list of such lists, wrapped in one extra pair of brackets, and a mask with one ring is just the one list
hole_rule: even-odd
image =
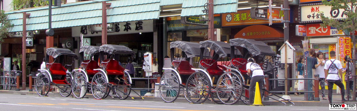
[(161, 79), (159, 84), (159, 92), (161, 99), (165, 102), (173, 102), (180, 94), (180, 82), (175, 73), (167, 72)]

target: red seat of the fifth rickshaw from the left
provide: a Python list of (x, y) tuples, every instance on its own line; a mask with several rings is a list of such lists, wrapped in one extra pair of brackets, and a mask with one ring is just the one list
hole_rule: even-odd
[[(205, 62), (205, 63), (203, 63)], [(211, 66), (208, 66), (207, 64), (212, 64)], [(201, 66), (205, 66), (207, 68), (208, 74), (210, 75), (222, 75), (223, 74), (223, 70), (221, 68), (219, 68), (217, 66), (217, 62), (215, 60), (212, 59), (203, 59), (200, 61)]]

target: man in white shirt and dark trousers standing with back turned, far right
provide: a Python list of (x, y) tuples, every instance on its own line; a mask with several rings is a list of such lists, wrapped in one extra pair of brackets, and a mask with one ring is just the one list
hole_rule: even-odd
[(338, 73), (340, 73), (340, 76), (342, 77), (341, 61), (336, 60), (335, 51), (330, 51), (329, 54), (331, 59), (326, 61), (325, 67), (323, 67), (325, 69), (325, 77), (328, 86), (328, 101), (330, 101), (330, 104), (332, 104), (332, 88), (333, 84), (336, 84), (341, 88), (342, 102), (346, 102), (345, 86), (342, 84), (342, 79), (338, 76)]

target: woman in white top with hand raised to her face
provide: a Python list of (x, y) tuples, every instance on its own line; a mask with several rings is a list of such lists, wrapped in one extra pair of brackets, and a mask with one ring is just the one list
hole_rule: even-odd
[(326, 100), (325, 98), (325, 70), (323, 69), (323, 67), (325, 66), (325, 59), (322, 55), (322, 52), (318, 51), (316, 54), (317, 57), (317, 67), (316, 67), (316, 74), (319, 75), (319, 81), (320, 81), (320, 87), (321, 87), (321, 95), (322, 95), (322, 99)]

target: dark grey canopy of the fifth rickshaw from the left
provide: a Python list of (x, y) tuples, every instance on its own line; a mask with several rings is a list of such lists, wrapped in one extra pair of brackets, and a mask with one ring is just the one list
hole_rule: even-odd
[[(200, 48), (210, 48), (211, 50), (214, 50), (219, 57), (227, 57), (231, 54), (231, 46), (222, 41), (200, 41)], [(240, 52), (238, 53), (238, 55), (241, 55)]]

